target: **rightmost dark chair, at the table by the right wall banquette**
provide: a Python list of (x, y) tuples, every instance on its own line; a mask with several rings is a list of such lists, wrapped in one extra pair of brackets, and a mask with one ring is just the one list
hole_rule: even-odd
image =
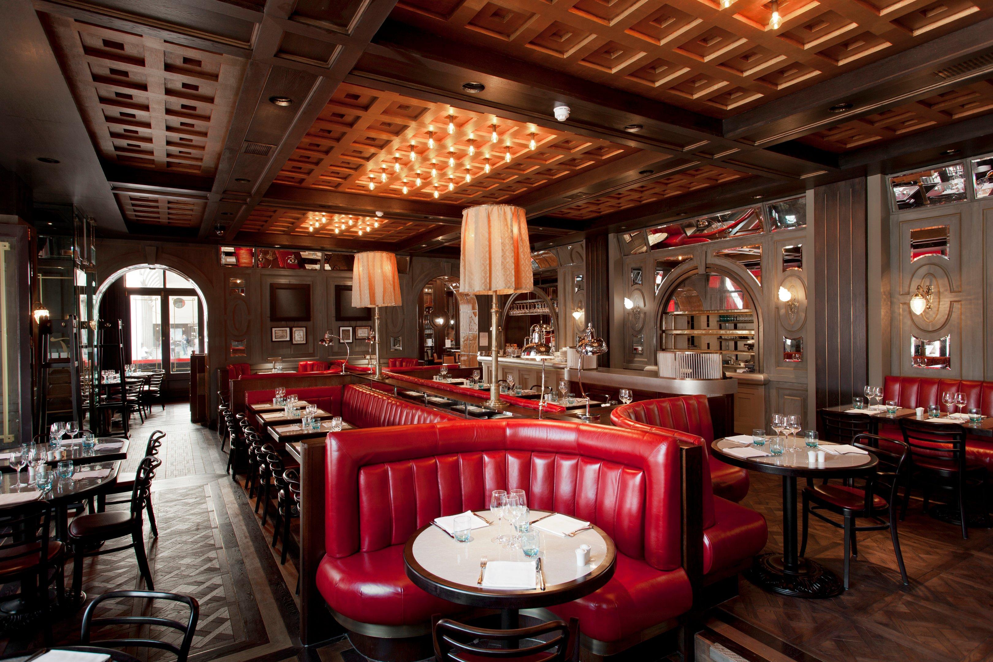
[[(965, 428), (957, 423), (928, 423), (917, 419), (900, 419), (904, 442), (911, 449), (907, 494), (901, 518), (907, 514), (907, 502), (915, 482), (921, 484), (923, 509), (927, 510), (932, 488), (954, 494), (962, 524), (962, 538), (969, 537), (968, 518), (965, 513), (965, 491), (977, 488), (983, 500), (986, 521), (989, 522), (986, 467), (970, 462), (965, 456)], [(950, 505), (950, 503), (949, 503)]]

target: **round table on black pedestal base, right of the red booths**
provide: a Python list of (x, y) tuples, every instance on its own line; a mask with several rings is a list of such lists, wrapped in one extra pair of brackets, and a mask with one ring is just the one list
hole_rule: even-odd
[[(802, 444), (802, 440), (794, 440)], [(836, 446), (821, 444), (821, 447)], [(756, 448), (727, 439), (718, 439), (710, 446), (721, 462), (750, 471), (773, 473), (782, 477), (782, 552), (762, 554), (755, 558), (746, 576), (757, 586), (792, 597), (833, 597), (844, 590), (833, 572), (812, 559), (799, 556), (796, 547), (796, 478), (853, 478), (872, 473), (879, 460), (871, 453), (832, 455), (825, 452), (824, 460), (811, 460), (807, 449), (786, 450), (780, 456), (741, 458), (733, 449)], [(768, 448), (765, 447), (765, 448)]]

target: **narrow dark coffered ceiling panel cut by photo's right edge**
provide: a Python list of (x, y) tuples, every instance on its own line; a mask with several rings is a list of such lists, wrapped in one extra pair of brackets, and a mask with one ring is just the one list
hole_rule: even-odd
[(993, 112), (993, 80), (980, 80), (914, 103), (844, 122), (799, 140), (831, 152), (847, 152), (900, 138), (923, 128), (952, 124), (989, 112)]

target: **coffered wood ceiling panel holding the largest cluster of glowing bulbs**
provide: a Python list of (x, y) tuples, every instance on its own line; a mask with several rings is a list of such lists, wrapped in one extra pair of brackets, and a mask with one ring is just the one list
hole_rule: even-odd
[(276, 182), (386, 198), (494, 203), (637, 151), (344, 83)]

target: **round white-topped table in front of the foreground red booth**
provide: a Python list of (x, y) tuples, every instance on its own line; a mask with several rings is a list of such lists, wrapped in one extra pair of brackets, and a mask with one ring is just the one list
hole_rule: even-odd
[[(492, 520), (489, 510), (477, 511), (484, 519)], [(531, 511), (537, 520), (547, 511)], [(540, 531), (541, 569), (545, 589), (492, 589), (478, 584), (481, 577), (481, 560), (527, 561), (520, 549), (509, 549), (492, 542), (497, 535), (497, 524), (473, 529), (469, 542), (458, 542), (444, 529), (428, 524), (414, 532), (403, 550), (407, 577), (418, 588), (459, 604), (499, 609), (500, 627), (516, 629), (520, 609), (550, 606), (587, 596), (603, 587), (614, 577), (617, 564), (617, 547), (603, 529), (592, 525), (573, 537), (560, 537)], [(503, 524), (504, 534), (513, 533)], [(576, 548), (589, 545), (590, 563), (578, 566)]]

